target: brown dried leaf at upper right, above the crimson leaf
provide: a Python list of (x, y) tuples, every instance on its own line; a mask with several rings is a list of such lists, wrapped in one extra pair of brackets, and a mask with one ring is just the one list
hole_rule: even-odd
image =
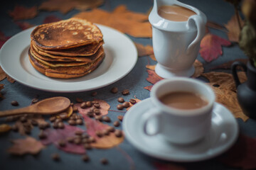
[[(241, 25), (244, 25), (244, 21), (242, 21), (242, 18), (239, 16), (239, 20)], [(239, 35), (240, 35), (240, 27), (238, 23), (238, 17), (236, 15), (232, 16), (230, 21), (228, 21), (227, 24), (224, 25), (225, 28), (228, 30), (228, 39), (233, 42), (239, 42)]]

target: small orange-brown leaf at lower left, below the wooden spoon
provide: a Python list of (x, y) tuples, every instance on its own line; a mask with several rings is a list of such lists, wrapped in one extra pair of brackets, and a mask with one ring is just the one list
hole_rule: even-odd
[(25, 139), (18, 139), (12, 141), (14, 145), (10, 147), (7, 152), (15, 155), (23, 154), (38, 154), (44, 146), (40, 141), (33, 137), (26, 137)]

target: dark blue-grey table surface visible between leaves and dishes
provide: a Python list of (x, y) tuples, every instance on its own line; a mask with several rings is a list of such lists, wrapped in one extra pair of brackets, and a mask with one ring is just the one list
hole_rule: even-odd
[[(4, 4), (1, 4), (0, 6), (0, 31), (3, 32), (6, 36), (12, 36), (21, 31), (21, 29), (18, 28), (16, 23), (14, 23), (14, 21), (12, 21), (12, 19), (8, 15), (8, 11), (13, 10), (16, 4), (30, 7), (39, 6), (41, 2), (41, 0), (5, 1)], [(203, 11), (203, 13), (206, 14), (209, 21), (214, 21), (215, 23), (227, 23), (231, 16), (233, 16), (234, 14), (233, 6), (223, 0), (182, 0), (182, 2), (199, 8), (201, 11)], [(127, 8), (131, 11), (146, 13), (149, 8), (153, 6), (153, 1), (106, 0), (105, 4), (100, 6), (100, 8), (107, 11), (112, 11), (120, 4), (125, 4)], [(41, 11), (35, 18), (24, 21), (27, 21), (33, 25), (38, 25), (43, 23), (43, 19), (46, 18), (46, 16), (54, 15), (58, 18), (66, 19), (72, 17), (75, 13), (79, 12), (80, 11), (78, 10), (73, 10), (63, 15), (58, 11)], [(226, 33), (223, 33), (220, 30), (211, 29), (210, 31), (213, 34), (228, 39)], [(134, 42), (139, 42), (144, 45), (152, 44), (151, 38), (133, 38), (132, 36), (129, 37)], [(238, 58), (246, 58), (238, 45), (233, 45), (232, 47), (223, 47), (223, 55), (220, 56), (218, 60), (214, 60), (210, 63), (206, 63), (201, 58), (201, 56), (198, 55), (198, 60), (203, 62), (206, 72), (210, 71), (210, 67), (215, 67), (224, 62), (228, 62), (230, 60), (235, 60)], [(122, 89), (129, 89), (130, 94), (129, 96), (124, 96), (125, 100), (133, 98), (134, 95), (141, 100), (149, 98), (149, 91), (143, 89), (144, 86), (151, 85), (148, 81), (146, 81), (146, 77), (148, 76), (148, 74), (146, 72), (145, 66), (146, 64), (148, 64), (148, 60), (150, 61), (150, 64), (156, 63), (148, 57), (139, 57), (134, 69), (132, 69), (132, 71), (127, 74), (126, 77), (115, 82), (114, 84), (94, 90), (97, 91), (97, 98), (107, 101), (107, 103), (110, 104), (113, 110), (116, 110), (115, 107), (117, 106), (117, 98), (119, 96), (122, 96), (120, 93), (110, 93), (110, 89), (113, 86), (117, 86), (119, 88), (119, 91), (121, 91)], [(11, 84), (6, 79), (1, 81), (0, 84), (4, 84), (4, 89), (1, 90), (1, 93), (4, 94), (5, 97), (4, 100), (0, 101), (0, 111), (13, 109), (14, 106), (11, 106), (10, 104), (13, 100), (18, 101), (18, 103), (20, 104), (18, 108), (28, 106), (31, 103), (31, 100), (35, 98), (35, 96), (38, 96), (39, 99), (53, 96), (66, 96), (70, 98), (72, 102), (75, 102), (75, 98), (82, 98), (85, 101), (92, 99), (92, 97), (90, 96), (92, 91), (59, 94), (32, 89), (18, 82)], [(119, 115), (124, 115), (124, 113), (119, 113)], [(109, 116), (110, 118), (112, 118), (112, 120), (117, 119), (117, 113), (115, 112), (110, 111)], [(240, 126), (240, 132), (242, 134), (248, 135), (250, 137), (256, 136), (255, 120), (249, 119), (246, 123), (244, 123), (238, 118), (237, 121)], [(4, 119), (0, 119), (0, 124), (1, 123), (4, 123)], [(84, 127), (80, 126), (80, 128)], [(122, 129), (122, 125), (119, 127), (119, 129)], [(31, 133), (31, 136), (38, 138), (37, 135), (38, 129), (35, 128)], [(132, 158), (135, 169), (156, 169), (156, 167), (154, 166), (154, 162), (167, 163), (142, 154), (127, 140), (124, 140), (124, 142), (122, 142), (118, 147), (114, 147), (112, 149), (92, 149), (91, 151), (87, 152), (90, 157), (90, 162), (87, 163), (81, 161), (80, 155), (67, 154), (58, 150), (53, 145), (50, 145), (46, 149), (43, 149), (41, 153), (37, 156), (26, 155), (24, 157), (14, 157), (8, 154), (6, 152), (6, 149), (11, 147), (10, 140), (18, 138), (21, 138), (21, 135), (18, 135), (14, 132), (10, 132), (7, 135), (0, 135), (0, 169), (132, 169), (132, 164), (127, 161), (127, 157), (125, 156), (125, 154), (122, 154), (120, 152), (120, 149), (126, 152), (129, 157)], [(57, 152), (60, 154), (60, 162), (53, 162), (53, 160), (50, 158), (50, 154), (52, 154), (53, 152)], [(102, 157), (107, 157), (110, 164), (106, 166), (100, 164), (100, 159)], [(227, 166), (224, 166), (223, 164), (220, 164), (220, 162), (218, 162), (215, 158), (203, 162), (182, 164), (179, 163), (178, 165), (181, 165), (186, 169), (231, 169)]]

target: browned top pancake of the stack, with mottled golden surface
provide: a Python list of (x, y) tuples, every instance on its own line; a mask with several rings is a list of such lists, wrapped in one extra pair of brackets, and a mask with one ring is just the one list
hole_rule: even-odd
[(32, 42), (43, 50), (63, 50), (97, 44), (102, 38), (97, 26), (79, 18), (46, 23), (37, 26), (31, 33)]

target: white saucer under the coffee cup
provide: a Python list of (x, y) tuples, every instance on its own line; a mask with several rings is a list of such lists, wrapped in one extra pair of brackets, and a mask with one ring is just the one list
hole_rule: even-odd
[(212, 126), (203, 140), (193, 145), (174, 145), (161, 135), (144, 134), (141, 117), (153, 107), (150, 98), (133, 106), (124, 115), (125, 137), (144, 154), (175, 162), (197, 162), (215, 157), (229, 149), (238, 137), (238, 123), (227, 108), (215, 103)]

